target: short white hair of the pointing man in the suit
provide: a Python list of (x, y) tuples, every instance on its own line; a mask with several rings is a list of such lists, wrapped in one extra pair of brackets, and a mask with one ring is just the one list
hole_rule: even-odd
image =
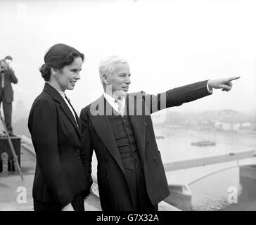
[(100, 74), (101, 83), (103, 84), (103, 75), (112, 74), (115, 70), (115, 65), (120, 63), (127, 63), (127, 60), (119, 56), (108, 56), (101, 60), (100, 64), (98, 65), (98, 72)]

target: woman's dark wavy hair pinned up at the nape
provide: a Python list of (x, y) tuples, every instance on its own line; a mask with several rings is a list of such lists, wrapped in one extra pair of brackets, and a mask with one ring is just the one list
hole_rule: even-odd
[(80, 57), (84, 60), (84, 54), (77, 51), (66, 44), (55, 44), (46, 52), (44, 56), (44, 63), (39, 71), (41, 77), (46, 82), (49, 82), (51, 77), (51, 68), (61, 70), (65, 65), (70, 65), (75, 58)]

